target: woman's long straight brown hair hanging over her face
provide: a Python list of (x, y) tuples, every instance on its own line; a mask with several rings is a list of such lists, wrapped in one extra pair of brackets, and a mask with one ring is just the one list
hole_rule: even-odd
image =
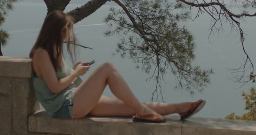
[(36, 43), (30, 51), (30, 58), (33, 57), (33, 53), (37, 48), (43, 48), (48, 52), (53, 67), (57, 71), (63, 65), (63, 39), (65, 38), (67, 51), (74, 63), (76, 58), (75, 45), (70, 45), (70, 42), (73, 44), (76, 42), (73, 24), (72, 16), (62, 11), (53, 11), (46, 16)]

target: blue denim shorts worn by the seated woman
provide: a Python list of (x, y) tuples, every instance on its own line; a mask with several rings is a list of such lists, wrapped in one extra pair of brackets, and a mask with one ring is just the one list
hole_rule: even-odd
[(54, 117), (60, 118), (60, 119), (73, 119), (73, 115), (72, 115), (73, 97), (74, 97), (74, 92), (71, 92), (69, 96), (66, 97), (62, 107), (55, 113)]

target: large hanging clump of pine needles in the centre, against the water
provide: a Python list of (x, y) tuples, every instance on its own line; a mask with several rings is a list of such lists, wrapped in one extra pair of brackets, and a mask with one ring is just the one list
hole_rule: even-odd
[[(209, 83), (212, 70), (201, 70), (192, 66), (194, 60), (194, 38), (185, 26), (179, 22), (188, 19), (188, 12), (182, 10), (180, 3), (168, 3), (166, 0), (129, 0), (123, 1), (132, 18), (138, 22), (138, 28), (129, 21), (123, 9), (111, 8), (105, 21), (112, 30), (106, 35), (123, 35), (118, 42), (117, 53), (129, 57), (145, 72), (153, 75), (157, 86), (152, 95), (158, 99), (157, 89), (161, 93), (161, 81), (165, 75), (173, 74), (176, 87), (193, 93), (194, 89), (203, 90)], [(175, 12), (172, 12), (176, 10)], [(141, 36), (141, 35), (144, 35)], [(149, 78), (151, 79), (151, 78)], [(154, 95), (156, 93), (156, 95)]]

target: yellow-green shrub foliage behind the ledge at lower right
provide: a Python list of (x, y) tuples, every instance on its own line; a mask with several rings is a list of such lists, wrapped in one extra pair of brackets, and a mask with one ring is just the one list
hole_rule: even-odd
[(248, 110), (248, 113), (243, 114), (243, 116), (236, 116), (235, 113), (231, 113), (226, 116), (225, 119), (240, 119), (240, 120), (253, 120), (256, 121), (256, 90), (254, 87), (251, 88), (250, 94), (243, 92), (242, 96), (245, 100), (245, 109)]

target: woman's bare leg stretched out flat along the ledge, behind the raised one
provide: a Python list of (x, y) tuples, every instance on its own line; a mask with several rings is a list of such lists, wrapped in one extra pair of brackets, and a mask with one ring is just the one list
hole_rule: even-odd
[[(160, 115), (168, 115), (172, 113), (184, 113), (190, 109), (190, 104), (194, 102), (184, 103), (144, 103), (150, 109)], [(102, 95), (97, 105), (90, 111), (92, 116), (131, 116), (135, 111), (127, 106), (121, 100), (113, 97)]]

